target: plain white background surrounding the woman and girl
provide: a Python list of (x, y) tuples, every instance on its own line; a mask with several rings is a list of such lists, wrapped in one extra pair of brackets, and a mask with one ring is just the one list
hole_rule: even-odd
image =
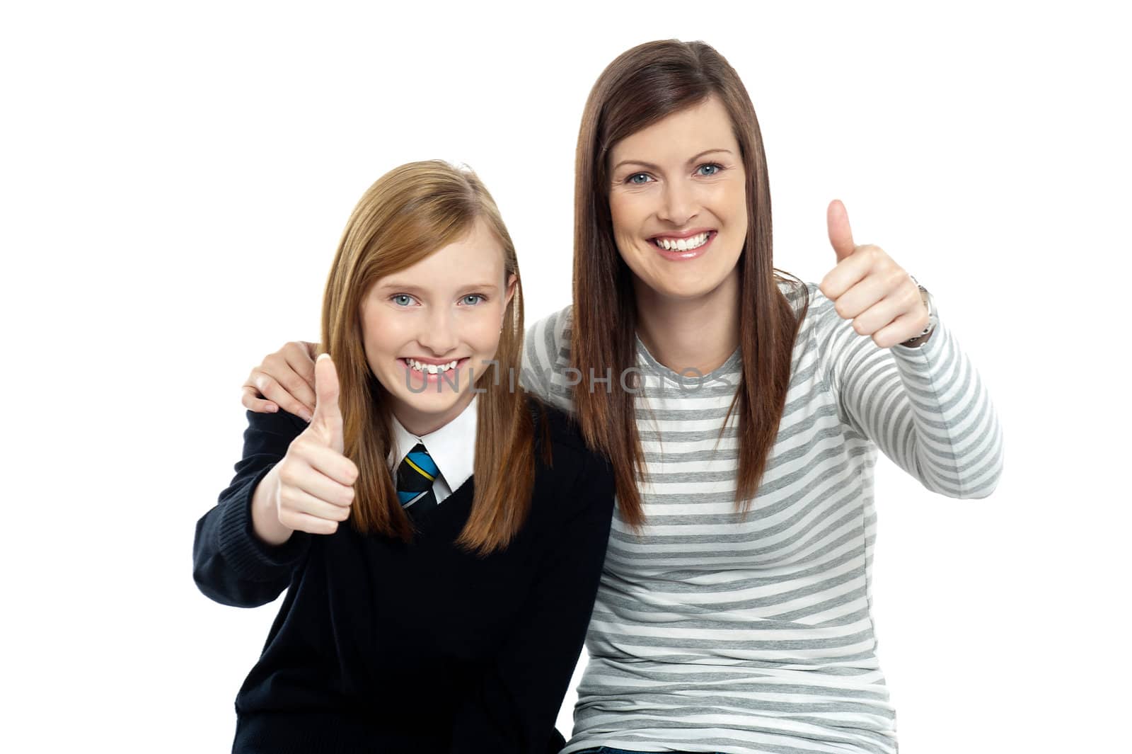
[(351, 208), (410, 160), (484, 179), (529, 323), (568, 303), (583, 102), (614, 57), (667, 37), (710, 42), (751, 92), (777, 265), (821, 280), (825, 207), (844, 200), (857, 242), (932, 289), (1005, 429), (989, 499), (877, 470), (875, 617), (901, 749), (1126, 746), (1116, 3), (14, 6), (3, 751), (229, 749), (276, 608), (211, 602), (190, 551), (239, 459), (243, 378), (317, 340)]

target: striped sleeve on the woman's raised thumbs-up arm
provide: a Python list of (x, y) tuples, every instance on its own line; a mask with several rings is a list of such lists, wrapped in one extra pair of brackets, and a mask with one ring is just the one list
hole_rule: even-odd
[(946, 324), (941, 319), (919, 348), (882, 349), (858, 335), (816, 286), (811, 299), (841, 421), (933, 492), (990, 495), (1002, 474), (1002, 428)]

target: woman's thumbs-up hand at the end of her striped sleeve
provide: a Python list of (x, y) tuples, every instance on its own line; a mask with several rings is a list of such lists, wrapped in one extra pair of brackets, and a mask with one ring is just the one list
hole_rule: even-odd
[(826, 223), (838, 264), (818, 288), (838, 315), (882, 349), (919, 335), (928, 312), (911, 276), (881, 247), (854, 245), (849, 214), (839, 199), (830, 203)]

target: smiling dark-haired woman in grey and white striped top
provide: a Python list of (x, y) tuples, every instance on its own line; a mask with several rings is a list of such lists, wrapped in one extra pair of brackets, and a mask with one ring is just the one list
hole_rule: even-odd
[[(757, 119), (709, 45), (614, 60), (576, 169), (575, 306), (529, 331), (523, 374), (608, 454), (618, 506), (564, 752), (895, 752), (876, 452), (989, 495), (1002, 439), (977, 374), (839, 202), (821, 285), (775, 274)], [(289, 344), (245, 404), (305, 402), (308, 379)]]

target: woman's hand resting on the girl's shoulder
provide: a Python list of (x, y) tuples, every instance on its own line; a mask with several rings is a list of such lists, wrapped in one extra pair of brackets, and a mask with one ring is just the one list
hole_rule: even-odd
[(315, 355), (318, 343), (291, 341), (268, 353), (245, 380), (240, 402), (248, 411), (288, 413), (310, 421), (315, 415)]

